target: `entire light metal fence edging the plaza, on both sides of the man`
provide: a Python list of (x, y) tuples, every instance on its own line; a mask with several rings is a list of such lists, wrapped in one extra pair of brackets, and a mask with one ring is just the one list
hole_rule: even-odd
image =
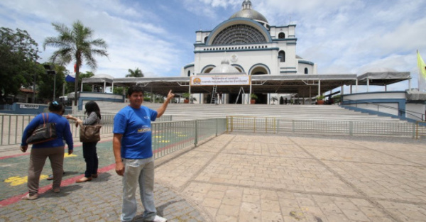
[[(77, 115), (84, 118), (84, 115)], [(0, 145), (21, 143), (23, 129), (33, 115), (0, 115)], [(366, 135), (420, 138), (426, 136), (426, 123), (403, 121), (307, 121), (274, 117), (228, 116), (197, 121), (171, 121), (172, 116), (162, 116), (153, 122), (153, 149), (157, 155), (173, 152), (187, 145), (197, 145), (212, 135), (226, 131), (262, 133), (312, 133), (328, 135)], [(103, 113), (102, 137), (112, 136), (114, 114)], [(78, 141), (78, 128), (70, 123), (74, 140)]]

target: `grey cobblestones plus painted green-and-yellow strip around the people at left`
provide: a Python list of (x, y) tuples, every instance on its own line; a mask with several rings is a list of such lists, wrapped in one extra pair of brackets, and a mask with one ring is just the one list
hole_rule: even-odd
[[(75, 148), (71, 156), (65, 157), (65, 175), (62, 182), (72, 179), (72, 183), (62, 186), (59, 194), (48, 189), (35, 201), (18, 201), (14, 204), (0, 206), (0, 221), (119, 221), (121, 214), (121, 178), (114, 170), (99, 174), (92, 182), (74, 183), (84, 174), (82, 148)], [(99, 169), (111, 168), (114, 162), (111, 141), (98, 143)], [(0, 160), (0, 201), (7, 201), (28, 192), (26, 176), (28, 174), (29, 155), (20, 155)], [(158, 161), (160, 162), (160, 161)], [(46, 160), (40, 179), (40, 190), (51, 184), (46, 180), (51, 173), (50, 162)], [(139, 192), (138, 215), (133, 221), (143, 221)], [(168, 221), (209, 221), (195, 204), (190, 204), (161, 184), (155, 184), (155, 205), (159, 215)]]

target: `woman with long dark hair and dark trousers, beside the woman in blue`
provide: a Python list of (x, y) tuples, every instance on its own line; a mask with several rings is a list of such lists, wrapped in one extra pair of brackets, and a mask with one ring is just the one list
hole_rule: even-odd
[[(101, 111), (96, 102), (89, 101), (84, 108), (86, 109), (84, 113), (87, 114), (87, 118), (84, 119), (84, 121), (71, 115), (67, 115), (67, 118), (74, 120), (76, 126), (79, 124), (94, 125), (101, 122)], [(83, 157), (86, 162), (86, 172), (84, 172), (84, 177), (76, 180), (77, 183), (87, 182), (91, 181), (92, 178), (97, 178), (98, 157), (96, 145), (97, 142), (83, 142)]]

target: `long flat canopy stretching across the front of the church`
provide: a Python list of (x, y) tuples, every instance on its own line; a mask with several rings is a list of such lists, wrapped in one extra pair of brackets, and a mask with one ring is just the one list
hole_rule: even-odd
[[(235, 74), (235, 73), (232, 73)], [(229, 74), (229, 75), (232, 75)], [(203, 74), (214, 75), (214, 74)], [(223, 75), (223, 74), (222, 74)], [(280, 93), (297, 94), (300, 97), (312, 97), (344, 85), (370, 85), (385, 86), (410, 79), (410, 72), (366, 72), (356, 74), (256, 74), (251, 76), (251, 91), (253, 93)], [(212, 93), (213, 86), (190, 86), (190, 77), (126, 77), (126, 78), (84, 78), (82, 83), (103, 85), (108, 82), (114, 87), (129, 87), (141, 85), (146, 91), (154, 94), (167, 95), (168, 91), (184, 93), (191, 91), (194, 94)], [(244, 89), (249, 93), (250, 86), (218, 86), (217, 91), (223, 94), (238, 94)]]

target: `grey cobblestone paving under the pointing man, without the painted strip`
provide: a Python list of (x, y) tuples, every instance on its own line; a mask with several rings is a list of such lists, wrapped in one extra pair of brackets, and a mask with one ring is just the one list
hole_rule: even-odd
[[(0, 221), (119, 221), (121, 177), (111, 173), (99, 174), (92, 182), (62, 187), (59, 194), (50, 190), (35, 201), (4, 206)], [(185, 199), (160, 184), (155, 184), (155, 204), (158, 214), (169, 221), (205, 221)], [(143, 212), (139, 197), (138, 212)], [(134, 221), (143, 221), (141, 214)]]

